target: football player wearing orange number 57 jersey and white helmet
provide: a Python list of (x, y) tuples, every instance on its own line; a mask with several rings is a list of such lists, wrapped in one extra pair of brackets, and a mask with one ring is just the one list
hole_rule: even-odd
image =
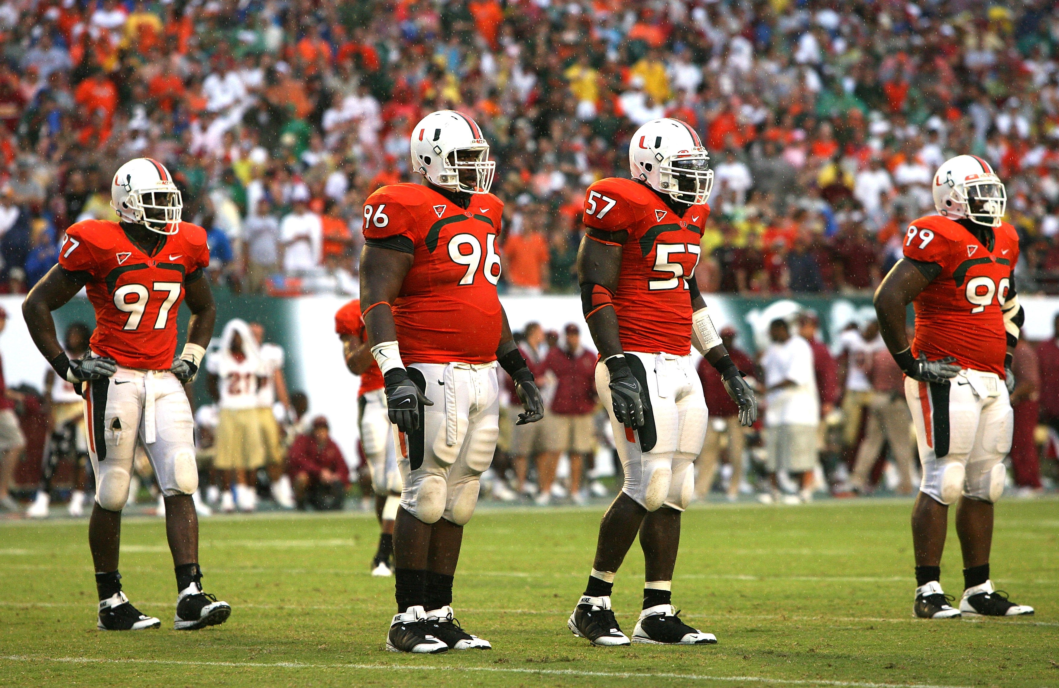
[(654, 120), (629, 144), (632, 179), (604, 179), (585, 198), (588, 232), (577, 257), (581, 306), (599, 362), (596, 390), (610, 414), (625, 483), (599, 525), (588, 586), (568, 627), (593, 645), (628, 645), (611, 611), (614, 574), (640, 533), (646, 582), (632, 639), (707, 645), (677, 616), (672, 569), (680, 514), (695, 494), (693, 463), (707, 411), (692, 364), (694, 343), (721, 374), (739, 421), (757, 417), (695, 282), (713, 185), (706, 149), (679, 120)]

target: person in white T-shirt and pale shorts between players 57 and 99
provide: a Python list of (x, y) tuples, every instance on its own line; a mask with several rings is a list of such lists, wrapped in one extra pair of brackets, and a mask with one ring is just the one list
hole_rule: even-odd
[(791, 334), (790, 324), (782, 318), (769, 324), (769, 338), (772, 344), (761, 357), (761, 369), (767, 394), (766, 468), (771, 491), (762, 492), (760, 500), (771, 504), (779, 499), (776, 472), (786, 470), (792, 478), (801, 476), (802, 491), (785, 502), (809, 502), (816, 466), (816, 426), (820, 423), (820, 394), (812, 347), (797, 334)]

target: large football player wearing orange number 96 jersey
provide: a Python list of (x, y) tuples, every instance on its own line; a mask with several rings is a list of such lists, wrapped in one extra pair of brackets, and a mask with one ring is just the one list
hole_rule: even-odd
[(452, 576), (463, 526), (499, 434), (497, 365), (525, 413), (544, 405), (497, 296), (503, 203), (496, 163), (473, 120), (453, 110), (412, 130), (412, 169), (426, 184), (383, 186), (364, 202), (360, 303), (382, 372), (402, 478), (394, 524), (395, 652), (489, 649), (460, 628)]

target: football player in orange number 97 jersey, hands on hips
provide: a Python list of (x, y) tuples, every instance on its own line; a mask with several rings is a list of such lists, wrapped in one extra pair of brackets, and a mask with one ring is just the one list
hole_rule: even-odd
[[(202, 592), (198, 564), (198, 489), (194, 423), (183, 385), (213, 334), (217, 309), (202, 269), (205, 231), (180, 221), (180, 192), (149, 158), (122, 165), (110, 186), (120, 222), (84, 220), (67, 230), (59, 264), (22, 305), (33, 341), (55, 374), (83, 388), (95, 504), (88, 542), (100, 594), (98, 628), (158, 628), (122, 592), (118, 573), (122, 508), (133, 456), (145, 451), (165, 500), (165, 530), (177, 577), (177, 630), (222, 623), (232, 608)], [(71, 360), (55, 337), (51, 311), (80, 291), (95, 308), (90, 350)], [(177, 311), (192, 311), (179, 357)]]

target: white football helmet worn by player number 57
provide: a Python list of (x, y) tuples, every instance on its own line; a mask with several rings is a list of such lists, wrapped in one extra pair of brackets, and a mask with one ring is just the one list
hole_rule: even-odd
[(705, 203), (714, 187), (710, 156), (695, 129), (680, 120), (651, 120), (629, 142), (632, 178), (681, 203)]

